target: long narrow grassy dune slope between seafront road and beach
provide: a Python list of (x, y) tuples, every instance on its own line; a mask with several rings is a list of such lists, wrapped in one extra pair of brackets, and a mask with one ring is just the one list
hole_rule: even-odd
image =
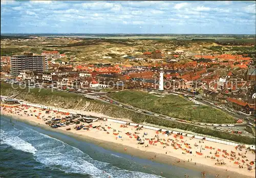
[[(17, 85), (13, 85), (13, 86), (17, 88)], [(203, 128), (201, 126), (190, 125), (190, 124), (176, 122), (172, 120), (163, 120), (163, 119), (159, 119), (158, 117), (148, 116), (148, 115), (136, 113), (124, 108), (120, 108), (116, 105), (103, 103), (98, 100), (88, 99), (75, 93), (68, 93), (63, 91), (51, 92), (51, 90), (49, 89), (39, 90), (38, 88), (31, 89), (30, 91), (28, 90), (28, 88), (13, 89), (11, 87), (11, 84), (6, 84), (6, 83), (1, 83), (0, 91), (1, 91), (1, 95), (11, 96), (12, 94), (14, 94), (14, 95), (17, 95), (16, 99), (26, 100), (30, 103), (46, 105), (46, 106), (54, 106), (54, 107), (59, 107), (64, 109), (74, 109), (77, 111), (81, 110), (81, 111), (96, 112), (96, 113), (108, 115), (110, 117), (130, 119), (135, 123), (141, 123), (141, 124), (151, 123), (159, 126), (165, 126), (170, 129), (177, 128), (185, 131), (195, 132), (198, 134), (204, 134), (204, 135), (218, 137), (221, 139), (236, 141), (239, 143), (255, 144), (255, 139), (251, 137), (244, 137), (236, 134), (223, 133), (220, 131)]]

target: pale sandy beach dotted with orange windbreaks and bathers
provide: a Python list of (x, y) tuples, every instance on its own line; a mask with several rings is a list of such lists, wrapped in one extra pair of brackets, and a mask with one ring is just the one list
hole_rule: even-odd
[[(46, 111), (34, 107), (1, 107), (1, 114), (47, 130), (84, 139), (113, 151), (201, 172), (205, 170), (206, 177), (207, 174), (219, 174), (219, 177), (255, 177), (255, 153), (242, 148), (242, 146), (236, 148), (231, 145), (176, 134), (167, 135), (153, 130), (102, 120), (92, 123), (92, 126), (100, 126), (97, 129), (91, 127), (89, 130), (77, 131), (74, 129), (75, 124), (52, 129), (45, 123), (44, 119), (62, 118), (66, 115), (54, 111), (47, 114)], [(98, 117), (102, 117), (102, 115)], [(89, 124), (84, 123), (84, 125)], [(101, 127), (104, 127), (106, 131)], [(71, 130), (67, 131), (67, 128), (71, 128)], [(126, 133), (131, 133), (131, 135)], [(144, 144), (138, 144), (137, 137), (144, 140)], [(252, 169), (248, 170), (248, 167)]]

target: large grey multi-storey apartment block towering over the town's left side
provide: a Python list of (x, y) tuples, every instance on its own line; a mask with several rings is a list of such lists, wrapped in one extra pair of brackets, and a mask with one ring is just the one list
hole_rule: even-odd
[(11, 75), (17, 77), (23, 70), (48, 71), (48, 62), (45, 56), (33, 56), (33, 53), (23, 56), (11, 56)]

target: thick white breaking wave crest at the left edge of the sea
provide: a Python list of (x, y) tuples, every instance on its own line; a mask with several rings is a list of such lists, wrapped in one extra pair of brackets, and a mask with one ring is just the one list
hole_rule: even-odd
[(37, 151), (31, 143), (26, 142), (18, 136), (11, 136), (3, 130), (1, 130), (1, 144), (7, 144), (12, 146), (14, 149), (30, 152), (32, 154), (35, 154)]

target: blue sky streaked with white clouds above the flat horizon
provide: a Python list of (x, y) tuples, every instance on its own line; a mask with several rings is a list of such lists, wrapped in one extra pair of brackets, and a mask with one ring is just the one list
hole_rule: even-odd
[(1, 33), (255, 34), (255, 1), (1, 1)]

